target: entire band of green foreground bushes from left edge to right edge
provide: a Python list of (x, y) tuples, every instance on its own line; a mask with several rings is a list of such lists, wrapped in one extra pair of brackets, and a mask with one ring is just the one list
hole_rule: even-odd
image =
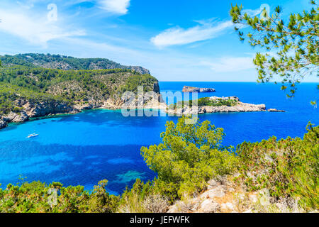
[(318, 126), (308, 124), (303, 139), (272, 137), (244, 142), (235, 151), (222, 145), (222, 128), (209, 121), (189, 125), (185, 120), (183, 116), (177, 124), (167, 122), (162, 143), (141, 148), (146, 164), (157, 172), (152, 181), (137, 179), (121, 196), (106, 192), (106, 180), (91, 194), (84, 187), (66, 188), (56, 182), (9, 184), (0, 189), (0, 211), (163, 212), (177, 199), (201, 192), (208, 179), (220, 175), (248, 191), (269, 189), (273, 203), (295, 199), (306, 211), (319, 209)]

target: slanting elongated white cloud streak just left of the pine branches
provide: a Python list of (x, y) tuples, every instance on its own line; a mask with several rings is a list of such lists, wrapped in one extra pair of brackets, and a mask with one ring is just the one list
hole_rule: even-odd
[(205, 21), (197, 21), (198, 26), (192, 28), (169, 28), (155, 37), (151, 38), (151, 42), (159, 48), (169, 45), (183, 45), (194, 43), (201, 40), (215, 38), (225, 31), (227, 28), (233, 27), (232, 21), (224, 21), (219, 23), (211, 23)]

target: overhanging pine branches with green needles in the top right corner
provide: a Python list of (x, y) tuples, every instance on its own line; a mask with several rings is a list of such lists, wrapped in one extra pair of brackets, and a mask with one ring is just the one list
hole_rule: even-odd
[[(281, 89), (290, 87), (287, 96), (296, 92), (296, 84), (309, 74), (319, 76), (319, 30), (318, 4), (310, 1), (312, 9), (302, 13), (291, 13), (285, 23), (281, 18), (281, 7), (272, 15), (262, 11), (261, 18), (244, 13), (242, 6), (232, 5), (230, 16), (240, 40), (245, 40), (243, 30), (252, 47), (260, 47), (266, 53), (257, 52), (254, 65), (258, 70), (258, 82), (269, 82), (281, 78)], [(288, 85), (287, 85), (288, 84)], [(319, 85), (317, 86), (319, 89)], [(313, 101), (315, 104), (315, 101)]]

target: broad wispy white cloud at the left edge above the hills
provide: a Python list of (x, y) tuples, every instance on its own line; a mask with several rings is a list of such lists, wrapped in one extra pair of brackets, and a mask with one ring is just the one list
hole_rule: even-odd
[(0, 31), (18, 36), (35, 45), (46, 46), (50, 40), (85, 35), (81, 30), (62, 28), (57, 23), (50, 23), (47, 15), (31, 16), (26, 11), (0, 9)]

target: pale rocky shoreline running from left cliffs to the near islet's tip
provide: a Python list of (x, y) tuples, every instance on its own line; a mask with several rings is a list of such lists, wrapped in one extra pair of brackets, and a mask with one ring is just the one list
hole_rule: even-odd
[(43, 116), (58, 116), (61, 114), (78, 114), (84, 110), (89, 109), (160, 109), (171, 116), (182, 116), (189, 114), (209, 114), (209, 113), (228, 113), (228, 112), (284, 112), (277, 109), (266, 109), (264, 104), (247, 104), (243, 103), (236, 96), (230, 97), (216, 97), (212, 96), (210, 99), (225, 99), (235, 100), (235, 106), (184, 106), (179, 109), (169, 109), (169, 106), (164, 103), (161, 95), (149, 96), (145, 94), (142, 99), (128, 101), (127, 99), (108, 99), (101, 102), (91, 101), (86, 104), (70, 105), (64, 101), (44, 101), (40, 103), (33, 103), (26, 99), (19, 99), (16, 101), (18, 106), (21, 106), (20, 113), (13, 113), (6, 116), (0, 116), (0, 129), (6, 128), (8, 123), (22, 123), (28, 121), (30, 118), (38, 118)]

